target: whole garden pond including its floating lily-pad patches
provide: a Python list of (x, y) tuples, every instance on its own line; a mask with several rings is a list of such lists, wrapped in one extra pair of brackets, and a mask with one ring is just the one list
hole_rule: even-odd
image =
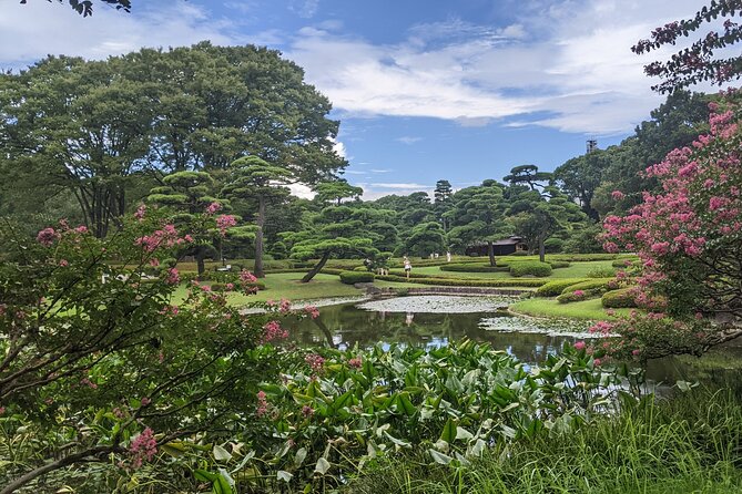
[[(292, 339), (302, 346), (345, 349), (400, 342), (437, 348), (469, 338), (489, 342), (529, 363), (570, 344), (591, 338), (591, 322), (510, 317), (498, 311), (515, 301), (508, 297), (414, 296), (344, 302), (319, 309), (317, 319), (289, 322)], [(742, 370), (742, 344), (713, 350), (703, 358), (667, 358), (648, 366), (648, 378), (674, 382), (736, 381)]]

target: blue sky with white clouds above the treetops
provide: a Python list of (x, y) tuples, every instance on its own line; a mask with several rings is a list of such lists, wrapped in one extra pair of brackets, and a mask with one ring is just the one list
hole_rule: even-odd
[[(334, 104), (337, 150), (366, 198), (551, 171), (620, 142), (662, 102), (629, 48), (701, 0), (0, 0), (0, 69), (48, 53), (100, 59), (141, 47), (265, 44)], [(654, 56), (662, 56), (662, 52)]]

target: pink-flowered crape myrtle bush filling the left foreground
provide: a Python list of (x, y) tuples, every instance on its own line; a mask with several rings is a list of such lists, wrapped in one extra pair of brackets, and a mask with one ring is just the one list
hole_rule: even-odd
[[(258, 383), (282, 368), (264, 344), (282, 332), (277, 313), (242, 315), (197, 282), (173, 306), (177, 269), (145, 276), (213, 229), (214, 216), (179, 228), (152, 209), (103, 240), (64, 220), (35, 238), (0, 224), (0, 429), (12, 451), (0, 493), (91, 480), (195, 492), (191, 469), (203, 466), (179, 462), (203, 456), (200, 444), (244, 433), (273, 447), (253, 422)], [(244, 271), (235, 288), (251, 294), (254, 279)]]

